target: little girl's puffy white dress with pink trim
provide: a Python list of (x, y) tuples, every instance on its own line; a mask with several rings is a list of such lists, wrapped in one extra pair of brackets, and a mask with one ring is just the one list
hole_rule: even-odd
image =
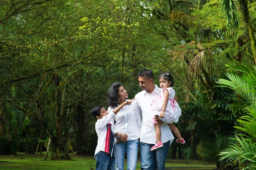
[[(168, 97), (168, 103), (166, 106), (166, 111), (164, 113), (164, 117), (160, 118), (163, 122), (166, 123), (177, 123), (179, 121), (180, 115), (181, 115), (181, 109), (178, 103), (175, 101), (174, 96), (175, 96), (175, 90), (173, 88), (163, 88), (163, 91), (167, 89), (169, 92), (169, 97)], [(163, 91), (161, 94), (155, 98), (151, 102), (151, 107), (154, 111), (154, 115), (159, 115), (160, 112), (162, 111), (163, 107)], [(157, 123), (156, 120), (152, 119), (152, 123)]]

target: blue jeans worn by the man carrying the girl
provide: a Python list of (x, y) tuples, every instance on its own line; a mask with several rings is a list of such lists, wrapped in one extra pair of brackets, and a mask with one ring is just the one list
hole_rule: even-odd
[(170, 141), (163, 143), (163, 147), (150, 151), (154, 144), (140, 142), (141, 170), (164, 170), (166, 157), (169, 152)]

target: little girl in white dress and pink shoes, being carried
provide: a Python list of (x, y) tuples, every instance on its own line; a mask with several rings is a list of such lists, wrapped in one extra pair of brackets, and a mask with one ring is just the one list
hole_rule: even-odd
[[(181, 109), (175, 96), (175, 91), (172, 88), (174, 81), (171, 73), (161, 73), (159, 76), (160, 88), (163, 89), (162, 93), (151, 102), (151, 107), (154, 110), (155, 115), (159, 115), (159, 118), (168, 123), (171, 130), (175, 133), (178, 139), (176, 139), (177, 143), (184, 144), (185, 140), (180, 136), (180, 131), (173, 124), (177, 123), (179, 117), (181, 115)], [(156, 150), (160, 147), (163, 147), (163, 143), (161, 142), (161, 130), (160, 126), (163, 122), (157, 122), (154, 118), (152, 123), (154, 123), (154, 128), (156, 131), (157, 143), (151, 148), (152, 150)]]

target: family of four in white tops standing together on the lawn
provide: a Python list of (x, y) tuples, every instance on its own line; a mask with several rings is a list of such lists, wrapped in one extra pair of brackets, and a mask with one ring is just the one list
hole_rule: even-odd
[(139, 146), (142, 170), (164, 170), (172, 131), (177, 143), (185, 143), (174, 125), (181, 109), (172, 74), (159, 75), (160, 88), (154, 85), (151, 70), (144, 68), (138, 76), (143, 91), (134, 99), (129, 100), (122, 83), (115, 82), (108, 89), (108, 111), (102, 105), (91, 110), (97, 119), (96, 170), (124, 170), (125, 152), (127, 170), (135, 170)]

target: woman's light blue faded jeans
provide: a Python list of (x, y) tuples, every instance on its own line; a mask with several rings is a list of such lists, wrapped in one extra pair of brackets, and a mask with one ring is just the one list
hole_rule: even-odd
[(120, 142), (115, 146), (116, 170), (125, 168), (125, 151), (127, 155), (127, 170), (135, 170), (137, 165), (137, 155), (139, 139)]

